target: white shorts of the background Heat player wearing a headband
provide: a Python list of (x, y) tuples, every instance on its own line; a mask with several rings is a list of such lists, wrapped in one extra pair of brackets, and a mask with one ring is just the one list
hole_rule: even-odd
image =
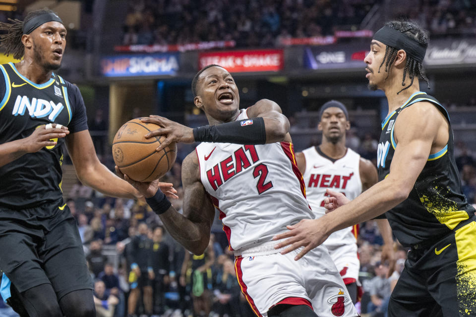
[(332, 261), (336, 264), (346, 285), (357, 282), (360, 262), (357, 257), (357, 245), (355, 243), (328, 246), (326, 245)]

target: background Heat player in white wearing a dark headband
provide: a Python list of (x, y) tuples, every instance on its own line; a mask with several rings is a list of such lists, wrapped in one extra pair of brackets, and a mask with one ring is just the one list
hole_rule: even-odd
[[(321, 144), (296, 154), (297, 167), (306, 185), (307, 201), (317, 217), (326, 213), (324, 199), (328, 196), (328, 190), (343, 193), (352, 200), (378, 180), (377, 169), (372, 162), (346, 147), (346, 131), (350, 127), (349, 114), (344, 104), (329, 101), (321, 107), (319, 113), (317, 128), (322, 131)], [(375, 220), (385, 242), (382, 260), (393, 262), (390, 225), (387, 219)], [(323, 243), (354, 303), (358, 300), (357, 281), (360, 268), (357, 235), (356, 225), (332, 233)]]

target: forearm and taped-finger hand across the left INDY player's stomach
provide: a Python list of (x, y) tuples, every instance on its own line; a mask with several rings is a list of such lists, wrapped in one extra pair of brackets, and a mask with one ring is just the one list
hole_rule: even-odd
[(54, 139), (64, 138), (69, 134), (67, 127), (48, 127), (40, 125), (26, 138), (0, 144), (0, 167), (19, 159), (27, 153), (35, 153), (44, 147), (55, 146)]

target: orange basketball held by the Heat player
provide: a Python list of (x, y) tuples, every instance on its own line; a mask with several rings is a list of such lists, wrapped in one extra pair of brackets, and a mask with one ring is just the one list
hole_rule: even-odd
[(159, 125), (142, 122), (140, 118), (127, 121), (119, 128), (113, 141), (113, 157), (120, 171), (129, 178), (150, 182), (172, 168), (177, 157), (176, 143), (157, 152), (155, 149), (166, 136), (145, 138), (147, 133), (159, 128)]

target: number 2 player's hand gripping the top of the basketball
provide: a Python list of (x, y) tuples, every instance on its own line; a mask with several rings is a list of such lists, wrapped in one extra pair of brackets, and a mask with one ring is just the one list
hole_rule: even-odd
[(166, 139), (162, 141), (159, 147), (157, 148), (157, 152), (162, 150), (172, 142), (195, 142), (195, 139), (193, 137), (193, 129), (186, 127), (180, 123), (174, 122), (158, 115), (150, 115), (148, 118), (142, 118), (141, 121), (158, 124), (162, 127), (160, 129), (151, 131), (145, 135), (147, 139), (154, 136), (166, 136)]

